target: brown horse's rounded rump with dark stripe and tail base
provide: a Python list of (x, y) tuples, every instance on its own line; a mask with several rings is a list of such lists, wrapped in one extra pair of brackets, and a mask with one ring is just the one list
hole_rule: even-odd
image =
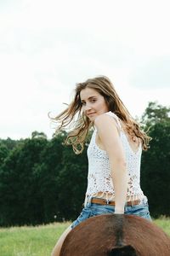
[(170, 237), (156, 224), (133, 215), (88, 218), (65, 238), (60, 256), (170, 256)]

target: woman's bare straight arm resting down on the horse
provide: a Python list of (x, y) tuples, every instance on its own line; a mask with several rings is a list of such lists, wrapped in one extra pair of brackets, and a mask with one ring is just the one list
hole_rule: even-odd
[(107, 152), (111, 165), (111, 176), (115, 189), (115, 213), (124, 213), (127, 198), (127, 167), (116, 120), (105, 114), (94, 120), (99, 140)]

